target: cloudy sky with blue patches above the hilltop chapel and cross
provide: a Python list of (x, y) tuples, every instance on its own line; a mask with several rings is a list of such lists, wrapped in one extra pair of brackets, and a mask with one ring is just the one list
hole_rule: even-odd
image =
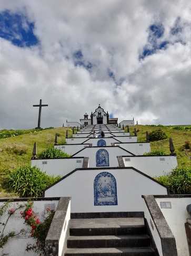
[(191, 122), (191, 1), (1, 0), (0, 129)]

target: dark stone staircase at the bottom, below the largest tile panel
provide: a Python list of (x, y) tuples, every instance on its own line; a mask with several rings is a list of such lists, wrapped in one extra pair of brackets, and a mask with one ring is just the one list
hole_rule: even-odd
[[(82, 217), (82, 214), (81, 214)], [(65, 256), (154, 256), (143, 217), (71, 219)]]

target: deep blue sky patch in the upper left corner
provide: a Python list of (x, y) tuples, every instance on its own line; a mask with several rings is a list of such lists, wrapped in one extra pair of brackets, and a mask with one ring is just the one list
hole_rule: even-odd
[(0, 12), (0, 37), (19, 47), (38, 44), (34, 23), (29, 22), (24, 14), (8, 10)]

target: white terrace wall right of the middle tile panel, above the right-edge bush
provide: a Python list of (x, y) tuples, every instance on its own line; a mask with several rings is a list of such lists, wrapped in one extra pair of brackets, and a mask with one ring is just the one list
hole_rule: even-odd
[(125, 167), (135, 167), (150, 177), (169, 174), (177, 167), (176, 156), (123, 157)]

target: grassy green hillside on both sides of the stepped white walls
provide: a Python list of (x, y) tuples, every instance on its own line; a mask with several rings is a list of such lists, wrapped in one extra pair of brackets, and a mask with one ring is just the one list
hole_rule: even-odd
[[(138, 141), (146, 140), (146, 131), (162, 129), (168, 137), (173, 138), (178, 165), (182, 167), (191, 165), (191, 153), (185, 151), (183, 145), (185, 141), (191, 142), (191, 130), (177, 130), (174, 126), (143, 126), (136, 125), (138, 130)], [(133, 135), (134, 127), (130, 127), (130, 133)], [(52, 128), (40, 131), (24, 130), (24, 134), (14, 134), (13, 137), (0, 137), (0, 196), (10, 196), (3, 187), (3, 180), (6, 175), (15, 167), (30, 163), (33, 145), (36, 141), (38, 154), (47, 147), (54, 145), (55, 134), (58, 134), (58, 143), (65, 143), (66, 128)], [(16, 136), (15, 136), (16, 135)], [(68, 135), (72, 136), (72, 129), (68, 129)], [(169, 154), (169, 138), (151, 142), (152, 150), (165, 150)]]

